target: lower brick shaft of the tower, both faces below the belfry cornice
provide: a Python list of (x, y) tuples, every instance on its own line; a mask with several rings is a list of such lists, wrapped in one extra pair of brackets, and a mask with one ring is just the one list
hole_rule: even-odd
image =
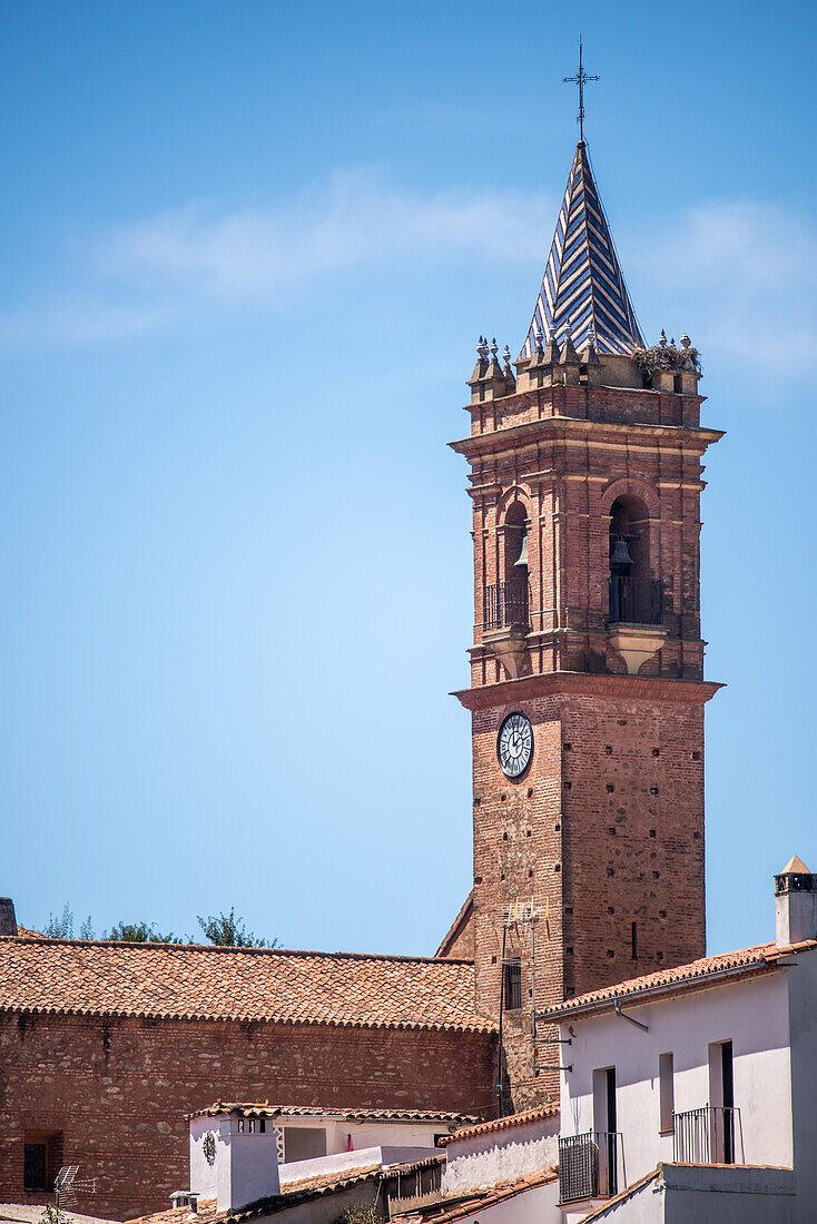
[[(513, 710), (534, 728), (514, 782), (496, 758)], [(506, 958), (522, 962), (522, 1009), (503, 1015), (503, 1050), (506, 1106), (524, 1109), (557, 1100), (557, 1034), (539, 1024), (534, 1056), (534, 1004), (704, 955), (703, 706), (525, 698), (475, 710), (473, 745), (476, 1004), (499, 1016), (502, 927), (518, 907)]]

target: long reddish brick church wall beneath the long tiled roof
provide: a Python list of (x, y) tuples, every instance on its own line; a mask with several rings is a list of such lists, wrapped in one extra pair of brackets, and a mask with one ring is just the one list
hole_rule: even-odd
[(485, 1114), (495, 1038), (483, 1033), (81, 1016), (0, 1017), (0, 1201), (23, 1193), (23, 1135), (61, 1131), (96, 1176), (80, 1211), (169, 1207), (189, 1184), (184, 1115), (225, 1100)]

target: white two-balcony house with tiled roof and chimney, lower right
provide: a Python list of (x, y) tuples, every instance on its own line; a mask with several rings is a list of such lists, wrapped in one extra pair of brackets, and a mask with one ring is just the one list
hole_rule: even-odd
[(817, 878), (775, 894), (774, 942), (546, 1009), (567, 1224), (817, 1219)]

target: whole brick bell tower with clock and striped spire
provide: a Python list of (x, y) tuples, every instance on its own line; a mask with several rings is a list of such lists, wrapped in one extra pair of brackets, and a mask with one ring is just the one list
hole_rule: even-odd
[(506, 1111), (556, 1082), (537, 1010), (704, 953), (699, 498), (721, 435), (688, 338), (642, 338), (583, 141), (510, 357), (480, 340), (452, 443), (474, 506), (476, 996), (502, 1011)]

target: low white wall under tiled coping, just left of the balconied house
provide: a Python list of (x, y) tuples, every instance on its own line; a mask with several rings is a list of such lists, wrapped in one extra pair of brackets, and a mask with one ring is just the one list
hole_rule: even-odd
[(446, 1146), (443, 1195), (458, 1195), (559, 1164), (559, 1115)]

